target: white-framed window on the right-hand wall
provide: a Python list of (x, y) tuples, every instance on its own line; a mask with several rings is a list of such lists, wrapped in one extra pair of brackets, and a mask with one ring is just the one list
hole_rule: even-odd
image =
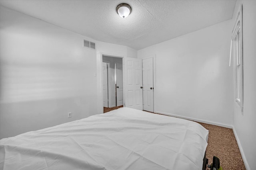
[(242, 34), (242, 6), (238, 12), (232, 31), (233, 55), (235, 59), (235, 100), (243, 111), (243, 34)]

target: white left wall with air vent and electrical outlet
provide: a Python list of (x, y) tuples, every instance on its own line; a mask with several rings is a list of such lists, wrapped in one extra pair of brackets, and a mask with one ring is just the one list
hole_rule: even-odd
[[(3, 6), (0, 12), (0, 139), (102, 113), (99, 54), (137, 57), (126, 46)], [(97, 51), (84, 48), (84, 39)]]

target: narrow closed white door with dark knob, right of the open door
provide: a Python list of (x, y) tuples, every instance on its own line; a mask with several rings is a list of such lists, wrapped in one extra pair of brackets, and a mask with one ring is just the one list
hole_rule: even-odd
[(153, 57), (142, 59), (143, 110), (154, 111)]

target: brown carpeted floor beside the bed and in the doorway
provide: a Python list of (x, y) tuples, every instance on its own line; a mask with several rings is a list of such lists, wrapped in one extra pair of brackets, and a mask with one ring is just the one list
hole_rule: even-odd
[[(120, 107), (123, 106), (104, 107), (104, 113)], [(208, 146), (206, 148), (206, 158), (209, 159), (208, 164), (212, 164), (213, 156), (217, 156), (220, 159), (220, 166), (222, 166), (223, 170), (246, 170), (233, 130), (206, 123), (200, 124), (209, 130)], [(210, 170), (210, 168), (206, 169)]]

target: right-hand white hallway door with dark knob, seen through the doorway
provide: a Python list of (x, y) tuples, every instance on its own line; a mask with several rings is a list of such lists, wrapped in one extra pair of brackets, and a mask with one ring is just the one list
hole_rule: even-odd
[(123, 65), (116, 63), (116, 106), (123, 104)]

